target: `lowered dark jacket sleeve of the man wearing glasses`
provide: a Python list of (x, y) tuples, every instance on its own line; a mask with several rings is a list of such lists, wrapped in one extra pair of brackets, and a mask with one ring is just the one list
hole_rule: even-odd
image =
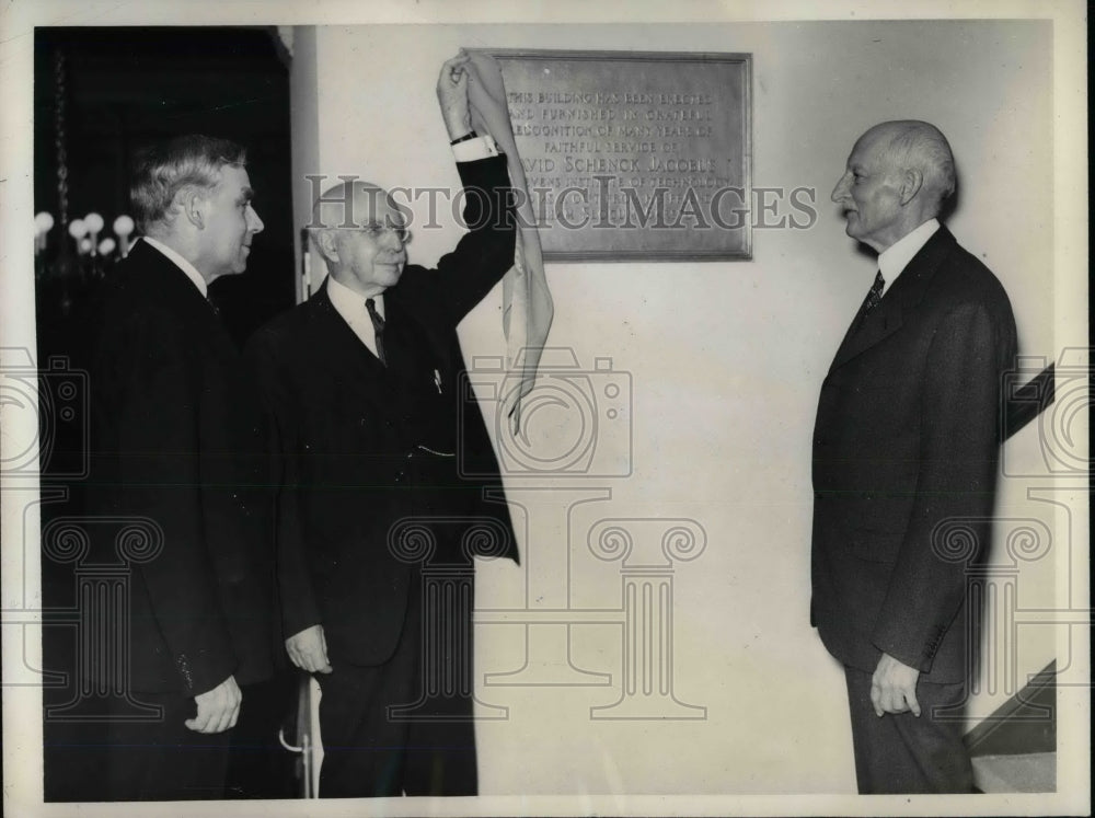
[(272, 480), (276, 491), (275, 538), (281, 627), (286, 637), (322, 624), (306, 558), (301, 525), (300, 463), (297, 424), (285, 381), (278, 373), (277, 349), (272, 336), (260, 331), (247, 345), (246, 365), (260, 387), (270, 447)]

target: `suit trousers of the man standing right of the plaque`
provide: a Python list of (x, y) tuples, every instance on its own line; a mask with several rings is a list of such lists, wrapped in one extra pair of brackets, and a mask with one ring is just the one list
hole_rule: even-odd
[(872, 673), (844, 668), (860, 793), (970, 793), (973, 770), (963, 742), (966, 684), (917, 685), (921, 715), (875, 715)]

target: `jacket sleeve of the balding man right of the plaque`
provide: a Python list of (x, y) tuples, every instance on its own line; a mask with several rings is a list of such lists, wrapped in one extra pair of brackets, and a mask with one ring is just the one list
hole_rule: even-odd
[(963, 304), (943, 318), (927, 355), (915, 503), (872, 635), (922, 672), (961, 606), (975, 558), (949, 552), (941, 527), (960, 519), (969, 542), (989, 546), (1005, 335), (988, 309)]

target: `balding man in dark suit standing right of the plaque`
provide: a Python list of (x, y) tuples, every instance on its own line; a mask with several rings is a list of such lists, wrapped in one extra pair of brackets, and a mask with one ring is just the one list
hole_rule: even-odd
[(832, 192), (879, 272), (821, 387), (811, 621), (845, 668), (861, 793), (970, 792), (960, 713), (976, 652), (956, 521), (983, 553), (1015, 322), (936, 216), (955, 187), (922, 122), (864, 134)]

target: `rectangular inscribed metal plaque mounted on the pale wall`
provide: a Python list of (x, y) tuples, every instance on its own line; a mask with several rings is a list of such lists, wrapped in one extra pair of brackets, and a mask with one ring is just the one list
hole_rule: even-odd
[(484, 50), (545, 258), (751, 257), (750, 55)]

